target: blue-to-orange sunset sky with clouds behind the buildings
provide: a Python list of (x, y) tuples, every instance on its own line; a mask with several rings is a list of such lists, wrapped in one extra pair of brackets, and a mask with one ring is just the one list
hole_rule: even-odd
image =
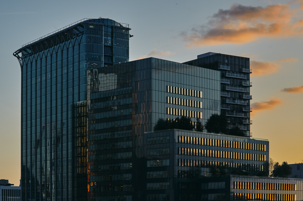
[[(0, 179), (19, 185), (21, 71), (12, 53), (83, 18), (127, 23), (130, 61), (175, 62), (215, 52), (250, 58), (251, 132), (270, 157), (301, 162), (303, 0), (1, 1)], [(301, 128), (301, 129), (300, 129)]]

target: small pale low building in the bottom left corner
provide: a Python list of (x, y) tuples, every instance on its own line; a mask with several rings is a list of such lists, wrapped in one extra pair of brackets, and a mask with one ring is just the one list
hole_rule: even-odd
[(0, 180), (0, 201), (21, 201), (21, 187), (13, 186), (8, 180)]

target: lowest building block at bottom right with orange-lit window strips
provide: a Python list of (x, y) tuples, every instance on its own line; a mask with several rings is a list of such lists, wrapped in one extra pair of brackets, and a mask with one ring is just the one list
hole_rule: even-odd
[(302, 200), (303, 180), (226, 175), (202, 179), (201, 193), (201, 200)]

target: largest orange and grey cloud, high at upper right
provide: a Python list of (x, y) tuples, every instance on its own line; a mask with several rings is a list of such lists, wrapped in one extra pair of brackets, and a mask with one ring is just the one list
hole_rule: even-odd
[[(302, 1), (296, 2), (301, 3)], [(244, 6), (233, 4), (230, 9), (219, 9), (208, 23), (192, 28), (181, 35), (188, 48), (221, 44), (245, 44), (262, 37), (302, 37), (303, 20), (298, 8), (288, 4)]]

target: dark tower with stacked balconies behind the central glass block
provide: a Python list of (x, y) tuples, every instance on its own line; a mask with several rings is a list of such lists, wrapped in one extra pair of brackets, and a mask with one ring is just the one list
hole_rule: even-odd
[(228, 118), (228, 128), (238, 126), (251, 136), (249, 58), (220, 53), (205, 53), (185, 64), (220, 71), (221, 113)]

